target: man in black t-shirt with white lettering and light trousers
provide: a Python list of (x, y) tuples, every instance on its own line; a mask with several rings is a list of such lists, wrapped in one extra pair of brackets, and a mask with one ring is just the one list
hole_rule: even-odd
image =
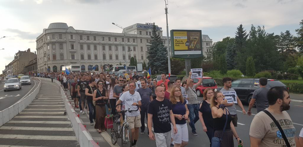
[[(149, 139), (157, 140), (157, 147), (169, 147), (171, 143), (171, 123), (174, 128), (174, 134), (177, 133), (175, 117), (172, 113), (172, 106), (169, 100), (164, 99), (165, 89), (162, 86), (157, 86), (155, 89), (157, 98), (149, 103), (148, 106), (148, 121)], [(155, 136), (151, 130), (151, 124), (154, 124)]]

